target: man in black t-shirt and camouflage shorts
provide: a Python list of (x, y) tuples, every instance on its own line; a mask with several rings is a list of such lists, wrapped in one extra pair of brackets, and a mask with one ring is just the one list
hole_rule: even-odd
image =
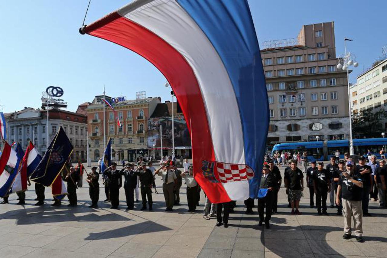
[(304, 175), (302, 174), (302, 171), (297, 168), (297, 163), (294, 160), (291, 161), (290, 165), (291, 169), (288, 169), (284, 176), (285, 187), (286, 191), (289, 193), (291, 214), (301, 215), (298, 207), (300, 206), (302, 191), (304, 190)]

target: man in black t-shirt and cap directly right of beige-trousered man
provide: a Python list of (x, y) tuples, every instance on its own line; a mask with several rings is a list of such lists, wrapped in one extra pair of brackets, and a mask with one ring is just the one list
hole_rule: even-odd
[(365, 165), (365, 157), (359, 158), (359, 165), (356, 165), (356, 172), (361, 175), (361, 179), (363, 180), (363, 216), (368, 217), (371, 216), (368, 213), (368, 202), (370, 200), (370, 192), (372, 191), (372, 169), (370, 166)]

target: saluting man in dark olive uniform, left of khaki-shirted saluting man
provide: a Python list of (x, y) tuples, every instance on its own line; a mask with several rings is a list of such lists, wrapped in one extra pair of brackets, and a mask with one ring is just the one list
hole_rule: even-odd
[(152, 210), (152, 186), (153, 186), (153, 174), (150, 169), (146, 168), (145, 163), (139, 164), (140, 166), (134, 172), (135, 175), (140, 177), (140, 188), (141, 188), (141, 199), (142, 199), (142, 208), (141, 210), (146, 210), (146, 199), (148, 198), (149, 210)]

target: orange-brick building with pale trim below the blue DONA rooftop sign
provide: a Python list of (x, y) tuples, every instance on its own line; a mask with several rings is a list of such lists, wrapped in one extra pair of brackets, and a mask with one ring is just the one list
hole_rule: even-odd
[[(106, 99), (111, 99), (105, 96)], [(147, 122), (158, 103), (159, 97), (140, 98), (136, 100), (117, 101), (113, 104), (122, 127), (112, 110), (105, 108), (105, 121), (102, 101), (103, 95), (95, 96), (91, 104), (87, 105), (90, 158), (98, 161), (103, 156), (103, 136), (106, 142), (111, 139), (112, 159), (115, 161), (129, 160), (134, 162), (137, 157), (148, 155)], [(105, 132), (103, 124), (105, 123)]]

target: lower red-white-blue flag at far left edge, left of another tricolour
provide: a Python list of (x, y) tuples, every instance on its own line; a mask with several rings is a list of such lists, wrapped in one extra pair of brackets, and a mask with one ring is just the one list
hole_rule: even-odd
[(0, 158), (0, 197), (8, 196), (15, 176), (22, 161), (24, 152), (17, 144), (16, 151), (5, 142)]

